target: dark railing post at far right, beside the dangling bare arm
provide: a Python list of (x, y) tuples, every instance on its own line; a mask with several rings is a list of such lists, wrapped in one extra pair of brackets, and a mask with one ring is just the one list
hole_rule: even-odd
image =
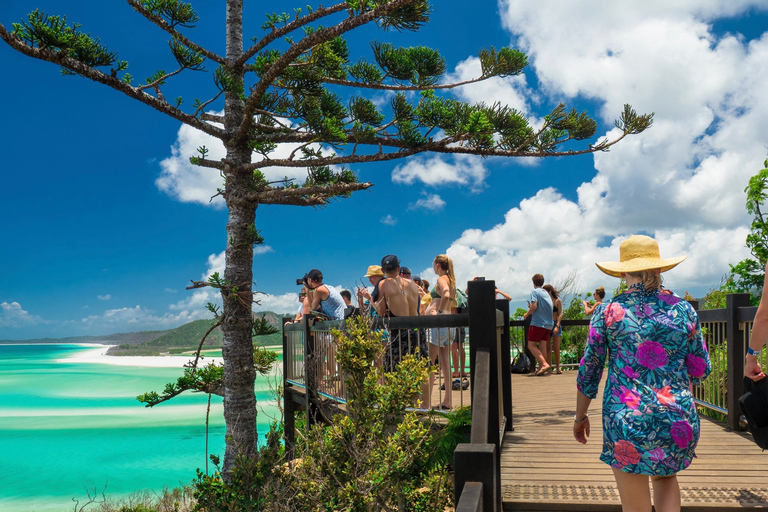
[(739, 397), (744, 394), (744, 331), (739, 326), (738, 308), (749, 306), (748, 293), (729, 293), (725, 298), (727, 324), (725, 335), (728, 340), (728, 393), (726, 404), (728, 407), (728, 428), (741, 430), (739, 417)]

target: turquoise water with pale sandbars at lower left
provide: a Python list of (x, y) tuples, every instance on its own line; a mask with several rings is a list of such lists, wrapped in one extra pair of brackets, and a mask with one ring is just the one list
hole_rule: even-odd
[[(207, 395), (153, 408), (136, 400), (161, 391), (180, 369), (66, 361), (82, 350), (92, 348), (0, 345), (0, 511), (63, 512), (72, 498), (84, 502), (86, 488), (100, 493), (106, 485), (108, 498), (161, 491), (205, 468)], [(277, 409), (264, 379), (259, 385), (263, 438)], [(224, 453), (220, 397), (211, 402), (209, 453)]]

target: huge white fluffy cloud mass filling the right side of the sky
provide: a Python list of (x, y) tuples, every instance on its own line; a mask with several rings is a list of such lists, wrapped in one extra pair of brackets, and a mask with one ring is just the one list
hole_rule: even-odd
[[(493, 228), (462, 233), (447, 251), (459, 281), (492, 276), (522, 300), (534, 273), (557, 283), (576, 271), (585, 289), (610, 289), (612, 279), (594, 262), (617, 260), (621, 240), (638, 232), (654, 236), (662, 256), (689, 255), (665, 275), (680, 293), (676, 285), (703, 294), (729, 263), (748, 257), (744, 187), (765, 159), (768, 34), (717, 36), (711, 23), (751, 7), (768, 9), (768, 2), (580, 0), (543, 10), (533, 0), (503, 0), (503, 23), (551, 102), (589, 98), (604, 121), (630, 103), (654, 112), (654, 125), (596, 154), (596, 174), (576, 201), (547, 188)], [(513, 106), (537, 104), (524, 82), (496, 86)], [(493, 97), (480, 86), (467, 89), (463, 99)], [(426, 183), (439, 172), (416, 169), (397, 176)]]

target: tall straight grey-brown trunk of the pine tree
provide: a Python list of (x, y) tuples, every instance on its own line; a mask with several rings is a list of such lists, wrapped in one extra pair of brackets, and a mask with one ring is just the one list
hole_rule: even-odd
[[(243, 53), (243, 0), (227, 0), (227, 61), (233, 63)], [(243, 76), (242, 69), (229, 69), (231, 77)], [(234, 133), (243, 119), (244, 103), (235, 93), (225, 96), (224, 125), (229, 134)], [(230, 139), (231, 141), (231, 139)], [(253, 241), (248, 227), (254, 225), (256, 204), (246, 200), (243, 193), (251, 190), (252, 176), (242, 166), (251, 162), (251, 150), (247, 147), (227, 146), (228, 168), (226, 180), (227, 250), (224, 279), (233, 290), (222, 290), (224, 323), (224, 421), (226, 422), (226, 450), (224, 453), (224, 478), (228, 478), (238, 455), (252, 457), (256, 454), (256, 397), (253, 367), (253, 343), (251, 330), (253, 317)]]

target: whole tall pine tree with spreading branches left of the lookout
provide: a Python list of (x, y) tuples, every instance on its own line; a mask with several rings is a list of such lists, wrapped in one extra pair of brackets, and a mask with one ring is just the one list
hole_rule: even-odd
[[(371, 23), (384, 31), (417, 31), (433, 8), (426, 0), (347, 0), (268, 14), (263, 32), (250, 40), (243, 35), (244, 0), (226, 0), (224, 55), (189, 35), (199, 21), (191, 4), (126, 1), (169, 35), (175, 70), (155, 71), (135, 85), (128, 62), (69, 23), (63, 13), (36, 10), (10, 30), (0, 24), (0, 38), (24, 55), (58, 65), (64, 74), (111, 87), (223, 142), (226, 157), (219, 161), (207, 159), (205, 147), (190, 155), (192, 164), (221, 174), (223, 185), (217, 192), (229, 215), (224, 276), (195, 284), (216, 287), (222, 296), (222, 309), (214, 314), (224, 332), (223, 377), (217, 385), (188, 379), (158, 401), (185, 389), (223, 395), (225, 475), (237, 455), (253, 456), (257, 446), (251, 309), (254, 245), (263, 243), (255, 225), (259, 205), (322, 207), (369, 188), (372, 184), (359, 182), (349, 165), (397, 161), (425, 152), (579, 155), (606, 151), (652, 123), (652, 114), (638, 115), (626, 105), (616, 121), (621, 131), (616, 139), (578, 146), (574, 141), (590, 139), (597, 129), (586, 113), (560, 104), (541, 126), (532, 127), (525, 114), (505, 105), (469, 105), (450, 97), (454, 87), (522, 73), (527, 58), (511, 48), (481, 50), (480, 76), (461, 83), (443, 82), (445, 60), (423, 46), (401, 48), (372, 41), (370, 50), (352, 60), (345, 34)], [(271, 5), (264, 3), (265, 9)], [(166, 98), (169, 84), (191, 71), (211, 73), (205, 95), (196, 96), (189, 107), (182, 97)], [(393, 94), (384, 108), (365, 97), (382, 91)], [(212, 113), (214, 107), (223, 107), (223, 115)], [(283, 144), (296, 149), (286, 158), (275, 158)], [(300, 184), (269, 182), (261, 171), (265, 167), (305, 168), (307, 178)]]

